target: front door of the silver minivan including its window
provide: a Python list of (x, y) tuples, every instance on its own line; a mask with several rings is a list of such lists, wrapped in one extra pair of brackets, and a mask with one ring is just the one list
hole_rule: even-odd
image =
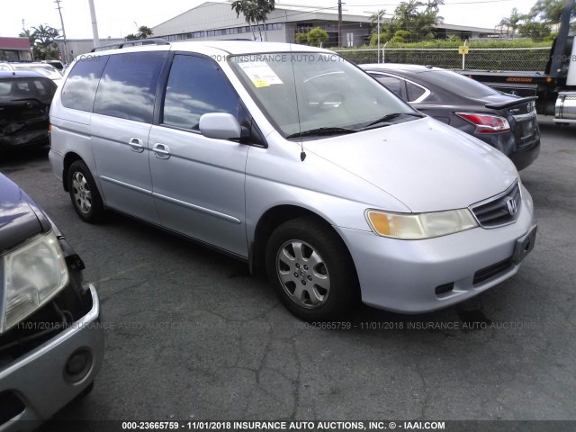
[(163, 226), (247, 257), (248, 146), (203, 137), (207, 112), (238, 118), (238, 94), (210, 58), (175, 54), (160, 124), (149, 136), (153, 196)]

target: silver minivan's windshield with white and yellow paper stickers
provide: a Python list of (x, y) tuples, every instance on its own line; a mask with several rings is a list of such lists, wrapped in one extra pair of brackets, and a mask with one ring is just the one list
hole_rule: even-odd
[[(392, 113), (414, 113), (383, 85), (336, 54), (276, 52), (230, 60), (247, 91), (284, 137), (313, 130), (346, 133)], [(399, 115), (390, 121), (416, 119)]]

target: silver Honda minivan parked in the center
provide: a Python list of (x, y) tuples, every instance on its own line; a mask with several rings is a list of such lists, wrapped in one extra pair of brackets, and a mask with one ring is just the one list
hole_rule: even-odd
[(67, 69), (50, 121), (80, 218), (120, 211), (266, 268), (303, 320), (462, 302), (515, 275), (536, 238), (507, 157), (325, 49), (99, 50)]

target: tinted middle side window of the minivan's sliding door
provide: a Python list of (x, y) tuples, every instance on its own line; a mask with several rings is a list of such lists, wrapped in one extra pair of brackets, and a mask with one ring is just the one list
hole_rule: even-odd
[(165, 51), (110, 56), (98, 85), (94, 112), (151, 123), (165, 58)]

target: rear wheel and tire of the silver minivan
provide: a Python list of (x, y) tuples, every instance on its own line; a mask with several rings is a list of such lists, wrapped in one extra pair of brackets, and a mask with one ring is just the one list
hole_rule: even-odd
[(70, 200), (78, 216), (85, 222), (97, 223), (103, 220), (102, 197), (94, 182), (94, 177), (82, 160), (76, 160), (68, 169), (67, 185)]

